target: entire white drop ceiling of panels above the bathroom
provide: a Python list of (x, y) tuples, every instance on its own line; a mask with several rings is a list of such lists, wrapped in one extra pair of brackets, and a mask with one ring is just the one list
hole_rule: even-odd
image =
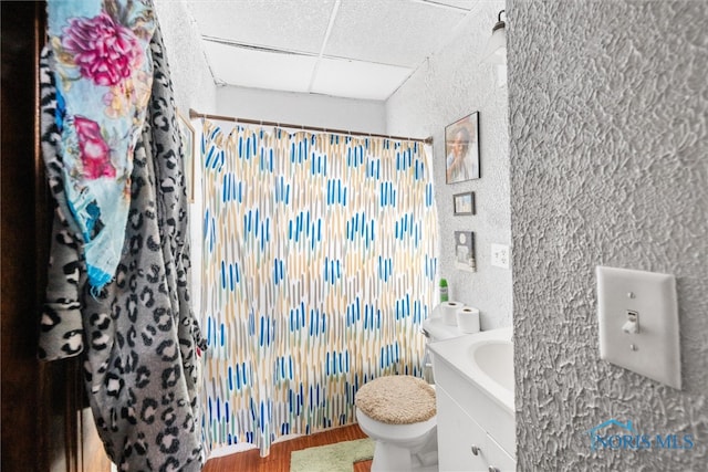
[(478, 0), (187, 3), (217, 85), (385, 101)]

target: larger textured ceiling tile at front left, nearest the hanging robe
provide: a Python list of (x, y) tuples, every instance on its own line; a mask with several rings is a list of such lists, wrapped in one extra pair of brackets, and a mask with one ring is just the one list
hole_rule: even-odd
[(320, 53), (334, 0), (190, 0), (202, 35)]

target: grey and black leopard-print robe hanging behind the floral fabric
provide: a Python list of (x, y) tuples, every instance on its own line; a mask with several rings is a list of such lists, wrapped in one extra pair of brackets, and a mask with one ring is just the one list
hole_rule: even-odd
[[(122, 471), (198, 471), (201, 350), (189, 306), (189, 233), (181, 141), (159, 28), (153, 93), (136, 145), (125, 244), (114, 280), (86, 284), (80, 239), (65, 214), (55, 93), (42, 63), (42, 139), (56, 200), (40, 357), (81, 355), (98, 434)], [(51, 57), (50, 57), (51, 60)]]

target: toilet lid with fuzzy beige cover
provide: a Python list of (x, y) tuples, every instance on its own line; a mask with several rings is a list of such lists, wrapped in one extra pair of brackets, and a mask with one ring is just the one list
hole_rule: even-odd
[(356, 408), (367, 417), (387, 424), (412, 424), (435, 416), (435, 389), (412, 376), (374, 379), (358, 389)]

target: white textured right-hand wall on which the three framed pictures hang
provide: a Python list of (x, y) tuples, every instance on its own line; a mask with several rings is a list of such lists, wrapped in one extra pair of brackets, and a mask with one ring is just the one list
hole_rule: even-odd
[[(511, 325), (511, 270), (490, 265), (491, 243), (511, 243), (509, 133), (506, 87), (494, 69), (480, 63), (503, 1), (481, 1), (455, 40), (430, 57), (386, 103), (393, 135), (433, 136), (435, 198), (438, 206), (439, 276), (450, 300), (481, 311), (482, 329)], [(480, 112), (481, 179), (445, 183), (445, 127)], [(472, 190), (476, 216), (452, 216), (452, 195)], [(475, 231), (477, 272), (455, 269), (454, 231)]]

